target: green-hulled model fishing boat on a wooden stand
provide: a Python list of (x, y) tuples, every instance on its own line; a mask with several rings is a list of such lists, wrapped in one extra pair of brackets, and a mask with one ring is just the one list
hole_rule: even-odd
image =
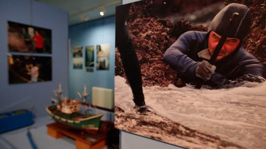
[[(78, 92), (79, 97), (83, 97), (83, 102), (66, 98), (62, 100), (62, 93), (63, 91), (61, 89), (61, 85), (59, 85), (59, 89), (54, 91), (54, 94), (58, 99), (51, 99), (52, 102), (57, 103), (57, 105), (46, 107), (46, 111), (49, 113), (49, 115), (56, 122), (64, 126), (96, 134), (100, 126), (101, 117), (104, 115), (104, 113), (87, 113), (87, 106), (89, 104), (86, 103), (86, 98), (88, 96), (86, 93), (86, 86), (84, 86), (83, 95)], [(85, 107), (84, 113), (80, 113), (81, 105), (84, 105)]]

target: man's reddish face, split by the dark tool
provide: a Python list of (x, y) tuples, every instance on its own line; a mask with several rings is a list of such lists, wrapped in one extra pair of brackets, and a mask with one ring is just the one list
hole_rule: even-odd
[[(218, 45), (219, 40), (221, 39), (222, 36), (219, 34), (215, 33), (214, 31), (210, 32), (209, 35), (209, 51), (211, 54), (213, 54), (216, 46)], [(227, 38), (224, 45), (222, 46), (222, 49), (216, 58), (216, 61), (219, 61), (226, 57), (227, 55), (231, 54), (235, 48), (239, 45), (240, 39), (237, 38)]]

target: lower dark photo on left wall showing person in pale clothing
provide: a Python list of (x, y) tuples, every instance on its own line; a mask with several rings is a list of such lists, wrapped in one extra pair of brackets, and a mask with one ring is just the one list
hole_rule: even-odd
[(8, 54), (9, 84), (52, 80), (52, 58)]

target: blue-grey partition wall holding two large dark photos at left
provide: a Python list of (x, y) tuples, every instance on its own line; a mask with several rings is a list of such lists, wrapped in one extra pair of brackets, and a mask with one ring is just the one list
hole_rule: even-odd
[[(52, 30), (52, 54), (15, 53), (52, 57), (52, 81), (8, 84), (7, 21)], [(31, 109), (36, 116), (47, 115), (52, 91), (62, 83), (68, 96), (68, 13), (33, 0), (0, 0), (0, 113), (17, 109)]]

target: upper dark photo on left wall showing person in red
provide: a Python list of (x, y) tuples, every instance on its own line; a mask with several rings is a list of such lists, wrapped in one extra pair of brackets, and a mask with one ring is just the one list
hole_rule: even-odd
[(8, 51), (52, 53), (52, 31), (8, 21)]

